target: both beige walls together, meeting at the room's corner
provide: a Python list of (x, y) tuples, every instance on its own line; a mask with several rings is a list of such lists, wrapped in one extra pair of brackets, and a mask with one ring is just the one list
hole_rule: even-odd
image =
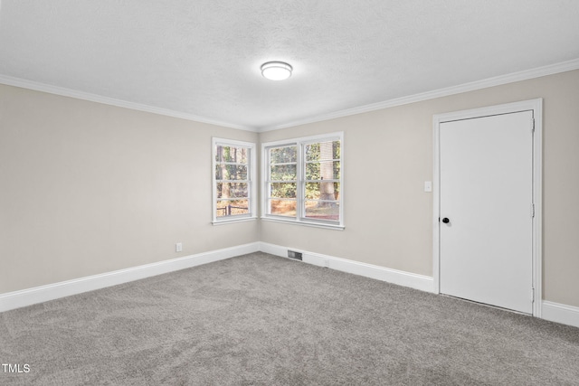
[[(569, 71), (258, 136), (0, 85), (0, 293), (256, 240), (431, 276), (432, 115), (544, 98), (544, 298), (579, 306), (577, 90)], [(334, 131), (345, 231), (210, 224), (211, 137)]]

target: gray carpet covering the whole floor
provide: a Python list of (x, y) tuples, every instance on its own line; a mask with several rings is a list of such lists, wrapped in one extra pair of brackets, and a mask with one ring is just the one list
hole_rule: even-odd
[(579, 328), (254, 253), (0, 314), (0, 384), (579, 385)]

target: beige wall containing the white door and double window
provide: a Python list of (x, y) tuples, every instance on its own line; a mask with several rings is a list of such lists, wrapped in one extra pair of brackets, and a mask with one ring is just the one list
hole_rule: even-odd
[(432, 276), (432, 116), (544, 99), (544, 298), (579, 306), (579, 71), (261, 133), (344, 131), (345, 231), (261, 223), (261, 241)]

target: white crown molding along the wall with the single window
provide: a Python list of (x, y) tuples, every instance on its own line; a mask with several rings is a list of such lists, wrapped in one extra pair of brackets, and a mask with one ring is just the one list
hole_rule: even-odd
[(109, 97), (103, 97), (97, 94), (91, 94), (90, 92), (79, 91), (76, 89), (66, 89), (64, 87), (53, 86), (52, 84), (41, 83), (33, 80), (24, 80), (21, 78), (14, 78), (6, 75), (0, 75), (0, 84), (5, 84), (7, 86), (20, 87), (22, 89), (33, 89), (36, 91), (47, 92), (49, 94), (61, 95), (62, 97), (70, 97), (74, 99), (89, 100), (90, 102), (102, 103), (110, 106), (117, 106), (119, 108), (129, 108), (132, 110), (145, 111), (147, 113), (153, 113), (158, 115), (163, 115), (173, 118), (181, 118), (186, 120), (192, 120), (200, 123), (207, 123), (210, 125), (216, 125), (221, 127), (231, 127), (237, 128), (239, 130), (247, 130), (256, 132), (257, 130), (253, 127), (245, 127), (242, 125), (235, 125), (231, 122), (223, 122), (217, 119), (204, 118), (196, 116), (194, 114), (188, 114), (181, 111), (171, 110), (169, 108), (157, 108), (154, 106), (143, 105), (140, 103), (129, 102), (127, 100), (114, 99)]

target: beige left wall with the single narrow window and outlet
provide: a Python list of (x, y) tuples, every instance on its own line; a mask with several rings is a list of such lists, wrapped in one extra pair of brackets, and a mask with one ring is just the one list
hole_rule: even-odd
[(211, 137), (256, 133), (3, 85), (0, 125), (0, 293), (258, 240), (210, 223)]

